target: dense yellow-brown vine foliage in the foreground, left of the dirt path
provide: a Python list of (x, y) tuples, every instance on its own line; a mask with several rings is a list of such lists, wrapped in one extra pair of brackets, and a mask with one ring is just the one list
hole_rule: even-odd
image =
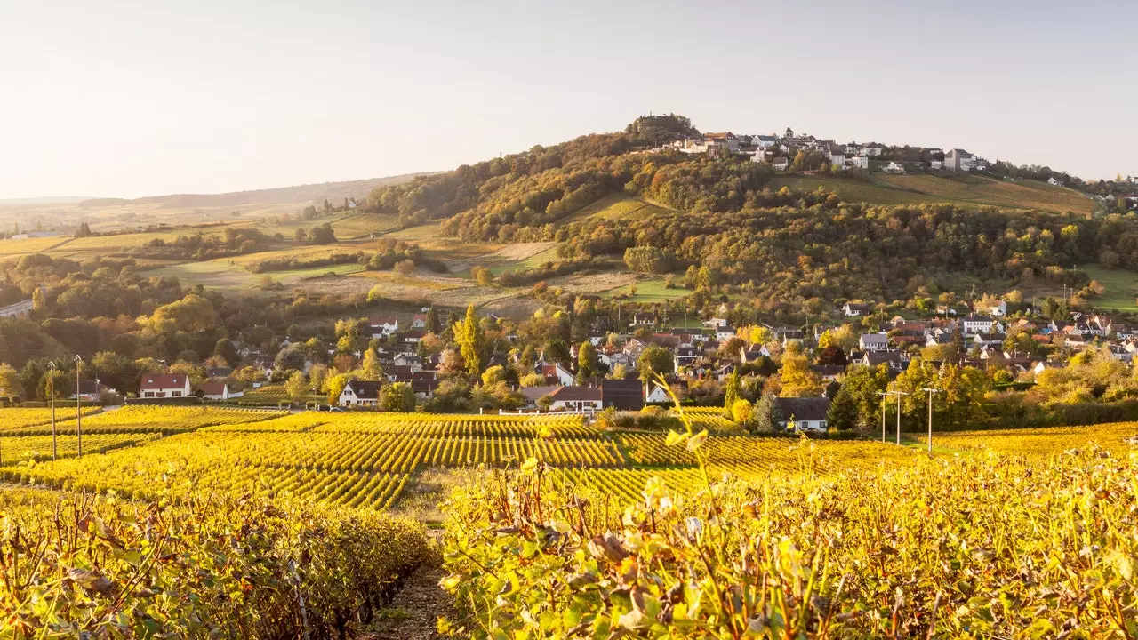
[(5, 638), (344, 637), (430, 555), (376, 511), (0, 493)]

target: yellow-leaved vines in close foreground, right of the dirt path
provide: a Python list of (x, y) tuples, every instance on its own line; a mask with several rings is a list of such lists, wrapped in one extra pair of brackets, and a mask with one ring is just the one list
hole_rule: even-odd
[(688, 497), (649, 481), (611, 527), (527, 467), (444, 508), (462, 633), (1138, 637), (1133, 457), (926, 459)]

